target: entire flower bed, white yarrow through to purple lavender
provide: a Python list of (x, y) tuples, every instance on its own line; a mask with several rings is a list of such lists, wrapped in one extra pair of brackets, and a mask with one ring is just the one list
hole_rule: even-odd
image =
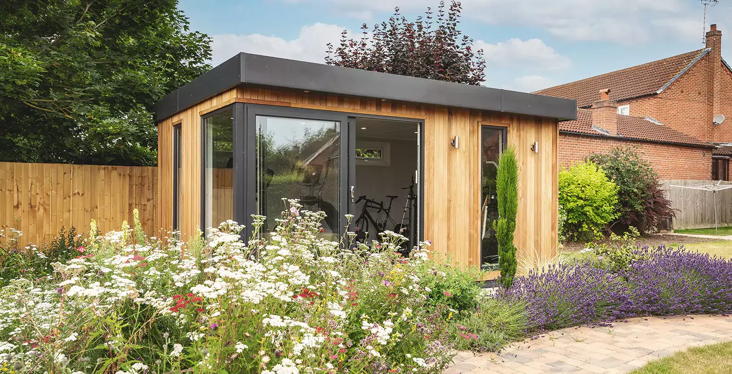
[(624, 238), (480, 296), (479, 270), (433, 260), (429, 242), (408, 258), (397, 233), (371, 247), (352, 233), (330, 242), (324, 214), (287, 203), (273, 233), (255, 217), (246, 243), (236, 222), (208, 242), (147, 238), (135, 214), (132, 229), (105, 236), (92, 225), (75, 258), (31, 250), (37, 271), (0, 288), (0, 362), (16, 374), (440, 373), (456, 348), (732, 311), (732, 262), (683, 248)]

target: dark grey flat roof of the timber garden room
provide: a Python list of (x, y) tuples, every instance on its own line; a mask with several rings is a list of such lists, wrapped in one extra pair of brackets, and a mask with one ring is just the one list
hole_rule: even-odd
[(575, 100), (239, 53), (153, 105), (156, 121), (242, 83), (530, 116), (577, 119)]

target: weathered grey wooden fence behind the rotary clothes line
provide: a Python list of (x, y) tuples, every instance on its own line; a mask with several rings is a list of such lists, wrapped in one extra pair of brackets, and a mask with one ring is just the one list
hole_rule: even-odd
[[(673, 219), (673, 228), (709, 228), (714, 227), (714, 198), (717, 198), (717, 220), (721, 226), (732, 225), (732, 189), (712, 193), (711, 191), (691, 190), (689, 188), (670, 187), (699, 185), (712, 181), (665, 180), (663, 188), (667, 198), (673, 201), (673, 207), (679, 209)], [(729, 182), (727, 182), (729, 184)], [(716, 196), (715, 196), (716, 195)]]

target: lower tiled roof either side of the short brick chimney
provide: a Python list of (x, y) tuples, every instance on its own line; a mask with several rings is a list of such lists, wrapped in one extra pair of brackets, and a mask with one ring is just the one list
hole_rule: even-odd
[[(618, 133), (621, 138), (635, 141), (651, 141), (662, 143), (674, 143), (683, 146), (702, 146), (712, 148), (711, 143), (700, 141), (684, 132), (673, 130), (671, 127), (658, 124), (643, 117), (618, 116)], [(559, 122), (559, 130), (562, 132), (579, 132), (589, 135), (605, 135), (594, 130), (592, 127), (592, 111), (589, 109), (578, 109), (576, 121)], [(732, 147), (731, 147), (732, 148)]]

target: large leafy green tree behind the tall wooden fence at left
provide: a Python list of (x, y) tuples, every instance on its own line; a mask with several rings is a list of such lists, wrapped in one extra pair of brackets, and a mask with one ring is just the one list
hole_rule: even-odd
[(176, 0), (0, 2), (0, 161), (155, 165), (151, 105), (209, 69)]

